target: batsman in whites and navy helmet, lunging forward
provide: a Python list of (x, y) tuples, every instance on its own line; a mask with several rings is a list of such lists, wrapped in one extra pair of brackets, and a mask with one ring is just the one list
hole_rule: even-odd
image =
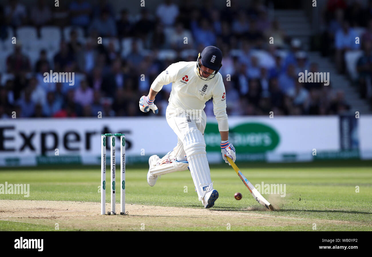
[(172, 83), (166, 119), (176, 133), (178, 142), (163, 158), (160, 159), (157, 155), (149, 158), (148, 184), (154, 186), (160, 175), (189, 168), (199, 201), (202, 201), (205, 208), (214, 206), (218, 198), (218, 192), (213, 189), (211, 181), (204, 141), (206, 115), (203, 109), (212, 97), (213, 111), (221, 134), (222, 158), (226, 163), (226, 156), (234, 162), (236, 160), (235, 148), (228, 141), (225, 86), (218, 72), (221, 66), (221, 50), (215, 46), (207, 46), (199, 53), (196, 62), (171, 64), (151, 84), (148, 96), (140, 99), (142, 112), (151, 109), (158, 113), (154, 104), (155, 96), (163, 85)]

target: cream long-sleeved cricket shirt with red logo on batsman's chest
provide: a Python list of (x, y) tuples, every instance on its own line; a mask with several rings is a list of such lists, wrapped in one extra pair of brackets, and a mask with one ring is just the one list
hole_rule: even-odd
[(219, 131), (228, 131), (226, 93), (223, 79), (217, 73), (211, 80), (202, 80), (196, 70), (196, 61), (176, 62), (159, 74), (151, 88), (160, 91), (163, 85), (172, 82), (169, 105), (181, 110), (203, 110), (213, 97), (213, 112)]

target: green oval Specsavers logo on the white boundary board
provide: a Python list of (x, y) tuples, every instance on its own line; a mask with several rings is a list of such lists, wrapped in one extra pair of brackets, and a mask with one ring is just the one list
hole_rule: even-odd
[[(216, 123), (207, 124), (204, 132), (206, 150), (221, 151), (221, 136)], [(229, 130), (229, 141), (239, 154), (263, 153), (274, 150), (279, 144), (278, 133), (262, 123), (243, 123)]]

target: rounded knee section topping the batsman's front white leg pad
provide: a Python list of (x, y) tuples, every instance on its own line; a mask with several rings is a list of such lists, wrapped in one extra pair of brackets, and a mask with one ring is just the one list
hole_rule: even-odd
[(205, 141), (202, 132), (198, 129), (190, 129), (187, 131), (183, 139), (183, 148), (187, 157), (195, 154), (206, 154)]

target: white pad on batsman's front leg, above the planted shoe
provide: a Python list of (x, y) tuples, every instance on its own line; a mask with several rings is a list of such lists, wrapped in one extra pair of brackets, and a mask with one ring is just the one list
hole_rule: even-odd
[(189, 169), (196, 192), (199, 201), (201, 201), (205, 193), (213, 189), (202, 132), (198, 129), (187, 131), (183, 140), (183, 147), (187, 155), (187, 161), (189, 161)]

